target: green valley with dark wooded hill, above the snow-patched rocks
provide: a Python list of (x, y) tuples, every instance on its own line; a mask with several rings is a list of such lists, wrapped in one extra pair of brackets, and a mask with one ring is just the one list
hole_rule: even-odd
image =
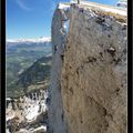
[(7, 48), (7, 96), (21, 95), (28, 89), (44, 88), (44, 84), (48, 86), (45, 82), (49, 82), (50, 78), (51, 57), (45, 55), (49, 54), (51, 44), (20, 44)]

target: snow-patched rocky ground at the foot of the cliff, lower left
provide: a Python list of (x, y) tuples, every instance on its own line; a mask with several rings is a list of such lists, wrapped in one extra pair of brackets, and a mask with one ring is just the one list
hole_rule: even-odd
[(38, 90), (20, 98), (7, 99), (7, 133), (45, 133), (47, 104), (47, 90)]

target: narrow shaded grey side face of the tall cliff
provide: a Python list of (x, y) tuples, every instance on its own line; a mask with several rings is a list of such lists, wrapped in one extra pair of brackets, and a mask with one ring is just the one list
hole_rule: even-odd
[(63, 121), (63, 105), (61, 95), (61, 70), (63, 49), (65, 43), (65, 31), (63, 23), (66, 21), (64, 10), (57, 9), (52, 20), (52, 68), (50, 86), (50, 106), (49, 106), (49, 132), (65, 133), (66, 127)]

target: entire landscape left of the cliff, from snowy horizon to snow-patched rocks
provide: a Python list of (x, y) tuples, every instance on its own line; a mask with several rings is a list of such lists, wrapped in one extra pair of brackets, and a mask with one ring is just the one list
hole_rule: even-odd
[(7, 42), (7, 133), (45, 133), (51, 41)]

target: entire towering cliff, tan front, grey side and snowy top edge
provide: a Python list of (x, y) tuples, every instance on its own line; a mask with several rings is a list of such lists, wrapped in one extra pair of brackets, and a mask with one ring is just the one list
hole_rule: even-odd
[(50, 132), (125, 133), (125, 11), (94, 3), (59, 8), (52, 43)]

